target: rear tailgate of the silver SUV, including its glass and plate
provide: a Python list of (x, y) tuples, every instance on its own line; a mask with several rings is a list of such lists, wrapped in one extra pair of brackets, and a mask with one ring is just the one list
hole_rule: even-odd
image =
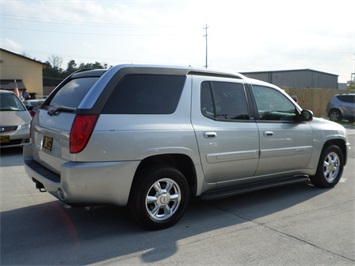
[(59, 173), (70, 158), (70, 132), (76, 110), (100, 77), (86, 76), (68, 80), (46, 99), (33, 119), (33, 158)]

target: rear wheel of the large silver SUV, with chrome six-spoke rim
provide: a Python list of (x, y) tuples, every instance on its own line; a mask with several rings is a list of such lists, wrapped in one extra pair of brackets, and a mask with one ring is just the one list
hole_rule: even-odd
[(152, 230), (176, 224), (184, 214), (190, 191), (185, 176), (175, 168), (140, 171), (132, 187), (129, 208), (139, 223)]

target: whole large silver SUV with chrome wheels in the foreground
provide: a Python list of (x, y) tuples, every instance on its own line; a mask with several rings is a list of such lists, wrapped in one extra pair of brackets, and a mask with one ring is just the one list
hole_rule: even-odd
[(313, 118), (274, 85), (206, 69), (119, 65), (75, 73), (32, 121), (25, 169), (69, 205), (128, 206), (151, 229), (190, 197), (310, 180), (335, 186), (344, 127)]

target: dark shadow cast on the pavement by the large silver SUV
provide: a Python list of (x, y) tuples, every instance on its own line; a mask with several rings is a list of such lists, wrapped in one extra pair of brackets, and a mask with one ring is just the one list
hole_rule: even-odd
[[(228, 230), (258, 226), (293, 206), (324, 193), (307, 183), (253, 192), (217, 201), (192, 199), (175, 226), (148, 231), (133, 222), (126, 208), (90, 211), (63, 208), (51, 201), (1, 213), (2, 265), (82, 265), (138, 257), (161, 262), (178, 245)], [(138, 262), (139, 263), (139, 262)]]

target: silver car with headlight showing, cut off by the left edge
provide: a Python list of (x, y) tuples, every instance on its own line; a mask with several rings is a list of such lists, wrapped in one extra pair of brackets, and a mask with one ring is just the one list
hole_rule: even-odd
[(30, 141), (31, 116), (12, 92), (0, 90), (0, 148), (23, 146)]

